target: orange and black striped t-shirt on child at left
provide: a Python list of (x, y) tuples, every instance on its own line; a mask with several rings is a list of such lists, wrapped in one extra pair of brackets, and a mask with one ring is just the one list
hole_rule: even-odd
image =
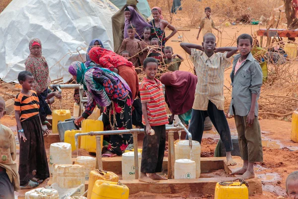
[(14, 110), (20, 111), (20, 120), (24, 121), (38, 115), (39, 100), (35, 91), (30, 91), (30, 95), (22, 92), (14, 99)]

